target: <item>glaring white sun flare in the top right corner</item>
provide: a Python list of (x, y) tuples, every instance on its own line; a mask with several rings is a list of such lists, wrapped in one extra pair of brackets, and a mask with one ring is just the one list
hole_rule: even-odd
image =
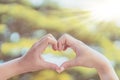
[(92, 17), (96, 20), (120, 20), (120, 0), (108, 0), (91, 9)]

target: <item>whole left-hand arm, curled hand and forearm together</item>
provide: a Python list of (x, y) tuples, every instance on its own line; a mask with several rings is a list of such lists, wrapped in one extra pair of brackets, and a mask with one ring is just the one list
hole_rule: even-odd
[(44, 61), (41, 54), (48, 45), (57, 48), (57, 40), (48, 34), (38, 42), (22, 57), (8, 61), (0, 65), (0, 80), (7, 80), (15, 75), (22, 73), (39, 71), (43, 69), (58, 69), (58, 66)]

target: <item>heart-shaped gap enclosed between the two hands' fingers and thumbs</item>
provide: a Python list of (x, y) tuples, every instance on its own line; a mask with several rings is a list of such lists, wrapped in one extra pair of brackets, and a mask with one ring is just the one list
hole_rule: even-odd
[[(51, 47), (50, 47), (51, 48)], [(50, 62), (53, 64), (56, 64), (58, 67), (61, 67), (61, 65), (67, 61), (69, 61), (71, 58), (73, 59), (75, 57), (75, 54), (72, 49), (67, 49), (66, 51), (55, 51), (48, 48), (44, 54), (42, 54), (42, 58), (46, 62)], [(69, 58), (69, 57), (70, 58)]]

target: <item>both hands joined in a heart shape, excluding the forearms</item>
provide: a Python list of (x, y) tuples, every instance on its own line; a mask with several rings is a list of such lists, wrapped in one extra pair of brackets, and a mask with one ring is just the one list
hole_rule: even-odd
[[(76, 53), (76, 58), (63, 63), (61, 67), (46, 62), (40, 54), (44, 52), (48, 45), (52, 45), (54, 50), (59, 51), (66, 50), (70, 47)], [(95, 52), (83, 42), (68, 34), (61, 36), (58, 41), (51, 34), (47, 34), (31, 47), (28, 53), (20, 59), (19, 63), (23, 66), (24, 70), (27, 70), (26, 72), (38, 71), (41, 69), (53, 69), (60, 73), (63, 70), (74, 66), (99, 68), (99, 65), (101, 65), (101, 63), (103, 64), (104, 60), (107, 61), (101, 54)]]

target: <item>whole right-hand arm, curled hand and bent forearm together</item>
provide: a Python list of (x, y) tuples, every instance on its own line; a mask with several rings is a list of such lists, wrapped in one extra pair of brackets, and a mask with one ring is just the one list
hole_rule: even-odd
[(101, 80), (119, 80), (109, 60), (105, 56), (72, 36), (64, 34), (58, 40), (58, 50), (64, 51), (68, 47), (74, 50), (76, 57), (73, 60), (63, 63), (61, 68), (57, 70), (59, 73), (70, 67), (83, 66), (95, 68)]

